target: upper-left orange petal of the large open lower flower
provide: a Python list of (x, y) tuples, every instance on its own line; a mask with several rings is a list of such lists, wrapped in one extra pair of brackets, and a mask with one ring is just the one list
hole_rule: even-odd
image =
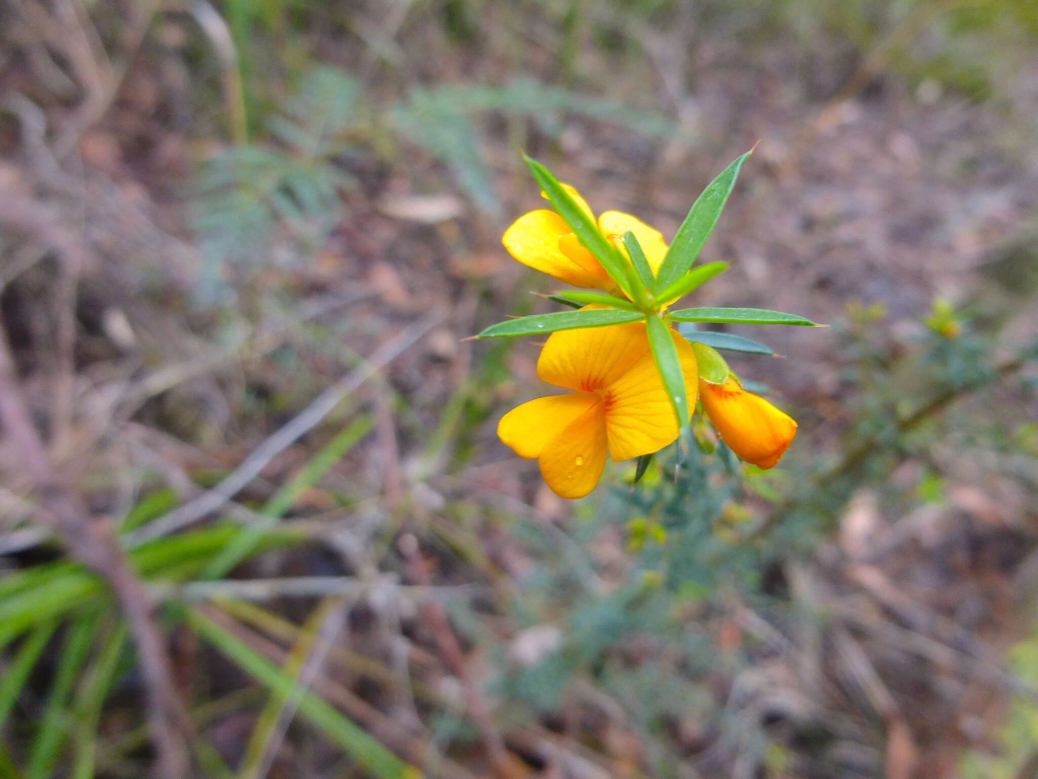
[[(601, 308), (586, 305), (586, 308)], [(649, 351), (641, 322), (559, 330), (548, 337), (537, 360), (537, 375), (555, 386), (604, 390)]]

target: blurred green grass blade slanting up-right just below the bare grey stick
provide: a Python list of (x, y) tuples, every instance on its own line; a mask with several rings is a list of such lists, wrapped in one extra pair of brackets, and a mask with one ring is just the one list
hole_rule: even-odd
[(268, 517), (267, 521), (257, 520), (245, 526), (220, 554), (203, 569), (201, 579), (220, 579), (235, 566), (251, 555), (264, 536), (269, 533), (277, 520), (295, 505), (305, 489), (316, 484), (329, 468), (346, 457), (357, 444), (371, 432), (374, 422), (370, 415), (358, 417), (345, 427), (334, 438), (321, 449), (298, 474), (289, 480), (277, 493), (260, 510)]

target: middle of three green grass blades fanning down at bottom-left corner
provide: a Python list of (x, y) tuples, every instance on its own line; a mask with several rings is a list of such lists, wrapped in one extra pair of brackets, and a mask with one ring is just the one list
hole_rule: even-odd
[(26, 779), (49, 779), (61, 756), (69, 723), (69, 697), (98, 632), (100, 612), (80, 615), (69, 627), (54, 683), (29, 752)]

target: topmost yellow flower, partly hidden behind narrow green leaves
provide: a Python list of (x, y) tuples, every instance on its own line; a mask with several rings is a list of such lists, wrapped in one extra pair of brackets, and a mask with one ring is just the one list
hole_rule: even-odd
[[(568, 184), (563, 185), (577, 205), (595, 221), (595, 214), (586, 200)], [(621, 252), (627, 257), (623, 236), (632, 232), (641, 245), (646, 260), (656, 273), (666, 256), (663, 235), (636, 216), (620, 211), (606, 211), (598, 217), (598, 229)], [(530, 268), (554, 276), (564, 284), (605, 292), (616, 292), (612, 280), (595, 256), (583, 244), (558, 214), (549, 209), (523, 214), (504, 231), (501, 243), (516, 260)]]

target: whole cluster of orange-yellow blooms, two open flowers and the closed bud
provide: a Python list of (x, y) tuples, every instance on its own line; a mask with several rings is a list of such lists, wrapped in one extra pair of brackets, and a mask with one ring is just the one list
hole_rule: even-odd
[[(567, 187), (567, 191), (594, 220), (576, 190)], [(634, 233), (653, 273), (658, 271), (667, 249), (658, 231), (619, 211), (601, 214), (597, 224), (625, 257), (620, 239), (627, 231)], [(617, 291), (595, 256), (554, 211), (521, 216), (506, 231), (502, 242), (516, 260), (559, 281)], [(796, 423), (744, 391), (734, 375), (721, 383), (701, 377), (688, 342), (674, 330), (671, 333), (685, 375), (688, 408), (695, 408), (699, 395), (714, 428), (739, 457), (762, 468), (772, 467), (796, 434)], [(607, 455), (621, 461), (652, 454), (679, 435), (644, 322), (553, 332), (537, 373), (544, 381), (573, 392), (514, 408), (501, 419), (497, 434), (520, 457), (537, 459), (545, 482), (563, 498), (591, 492)]]

